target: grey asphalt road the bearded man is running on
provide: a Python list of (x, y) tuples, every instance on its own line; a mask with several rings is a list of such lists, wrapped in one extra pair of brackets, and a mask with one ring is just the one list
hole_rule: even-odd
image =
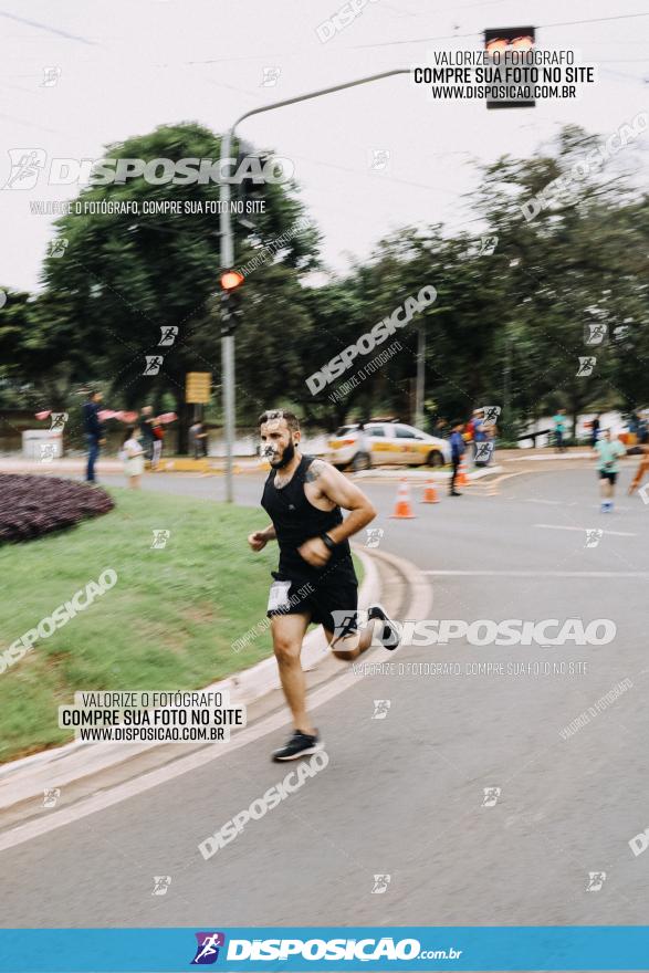
[[(605, 618), (615, 639), (385, 652), (394, 674), (359, 678), (317, 709), (328, 765), (209, 861), (198, 844), (292, 768), (269, 761), (284, 730), (2, 852), (0, 923), (646, 923), (649, 855), (628, 843), (649, 826), (649, 506), (621, 495), (630, 475), (628, 464), (613, 515), (599, 513), (593, 469), (572, 463), (417, 503), (411, 521), (388, 517), (394, 483), (368, 481), (380, 548), (432, 572), (432, 618)], [(255, 504), (260, 483), (239, 477), (240, 502)], [(219, 496), (222, 480), (160, 474), (147, 489)], [(251, 529), (263, 523), (251, 513)], [(590, 529), (605, 531), (596, 546)], [(399, 673), (419, 662), (460, 671)], [(624, 679), (632, 687), (595, 709)], [(385, 719), (375, 700), (389, 700)], [(500, 788), (492, 806), (484, 788)], [(589, 872), (606, 872), (597, 891)], [(383, 892), (377, 875), (390, 877)], [(154, 876), (171, 877), (166, 894), (151, 894)]]

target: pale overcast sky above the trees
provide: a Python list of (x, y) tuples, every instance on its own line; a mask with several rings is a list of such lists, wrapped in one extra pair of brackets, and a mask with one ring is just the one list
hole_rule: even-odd
[[(272, 101), (426, 63), (435, 49), (479, 49), (486, 27), (536, 25), (541, 46), (576, 49), (599, 65), (598, 84), (579, 101), (534, 109), (432, 104), (423, 88), (398, 76), (244, 122), (243, 137), (294, 161), (302, 198), (324, 233), (326, 263), (339, 271), (405, 224), (470, 228), (464, 196), (477, 182), (474, 161), (527, 155), (568, 122), (610, 133), (649, 107), (649, 17), (549, 27), (640, 13), (647, 10), (640, 0), (376, 0), (322, 43), (315, 29), (342, 6), (6, 0), (0, 184), (10, 171), (9, 148), (98, 158), (107, 143), (161, 124), (197, 121), (220, 132)], [(460, 34), (472, 35), (452, 39)], [(45, 66), (61, 69), (54, 86), (42, 86)], [(264, 69), (274, 75), (279, 69), (274, 86), (263, 85)], [(389, 153), (386, 171), (370, 168), (375, 150)], [(74, 195), (42, 184), (0, 192), (1, 284), (36, 286), (52, 226), (51, 218), (30, 215), (30, 200)]]

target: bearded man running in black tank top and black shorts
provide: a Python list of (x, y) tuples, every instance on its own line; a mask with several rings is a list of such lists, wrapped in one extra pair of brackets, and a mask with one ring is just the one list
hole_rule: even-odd
[[(348, 538), (376, 516), (367, 496), (329, 463), (300, 452), (300, 422), (293, 412), (266, 411), (259, 419), (261, 456), (271, 471), (261, 505), (270, 526), (248, 537), (253, 551), (278, 541), (280, 564), (270, 589), (273, 650), (280, 679), (294, 720), (294, 733), (273, 760), (295, 760), (322, 749), (317, 730), (306, 714), (302, 640), (311, 622), (324, 627), (338, 659), (350, 661), (369, 648), (375, 621), (377, 637), (396, 649), (399, 635), (380, 605), (368, 609), (359, 630), (358, 579)], [(341, 508), (349, 511), (343, 520)]]

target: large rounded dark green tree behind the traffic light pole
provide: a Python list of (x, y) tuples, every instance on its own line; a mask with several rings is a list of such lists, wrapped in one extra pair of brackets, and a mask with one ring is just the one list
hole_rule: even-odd
[[(218, 159), (220, 139), (196, 124), (163, 126), (146, 136), (107, 147), (108, 158)], [(264, 186), (264, 212), (254, 227), (232, 217), (237, 263), (255, 247), (286, 234), (303, 217), (300, 201), (278, 184)], [(143, 176), (124, 184), (100, 185), (95, 177), (78, 196), (81, 212), (57, 221), (57, 234), (67, 241), (62, 259), (45, 261), (43, 282), (50, 294), (65, 294), (69, 320), (82, 348), (92, 348), (102, 369), (94, 377), (113, 388), (121, 404), (150, 401), (156, 408), (170, 394), (177, 411), (184, 409), (185, 374), (220, 370), (220, 323), (213, 295), (220, 273), (217, 215), (200, 203), (219, 200), (216, 182), (151, 186)], [(85, 212), (86, 203), (136, 203), (138, 215)], [(144, 203), (177, 202), (180, 213), (143, 215)], [(185, 211), (185, 207), (189, 210)], [(299, 276), (317, 260), (313, 228), (291, 236), (281, 257)], [(261, 272), (259, 272), (261, 273)], [(292, 286), (291, 274), (275, 285)], [(160, 346), (163, 328), (178, 328), (172, 346)], [(83, 351), (80, 352), (84, 357)], [(146, 356), (159, 355), (158, 375), (145, 375)], [(87, 359), (87, 355), (86, 355)]]

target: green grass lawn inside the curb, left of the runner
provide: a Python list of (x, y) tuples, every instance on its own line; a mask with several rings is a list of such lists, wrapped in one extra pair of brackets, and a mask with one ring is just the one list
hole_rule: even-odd
[[(111, 490), (115, 510), (70, 531), (0, 547), (0, 651), (97, 580), (117, 583), (0, 674), (0, 762), (72, 739), (56, 708), (78, 690), (196, 689), (272, 652), (264, 630), (276, 545), (253, 554), (263, 511)], [(151, 550), (154, 530), (170, 531)], [(359, 565), (357, 564), (357, 569)]]

